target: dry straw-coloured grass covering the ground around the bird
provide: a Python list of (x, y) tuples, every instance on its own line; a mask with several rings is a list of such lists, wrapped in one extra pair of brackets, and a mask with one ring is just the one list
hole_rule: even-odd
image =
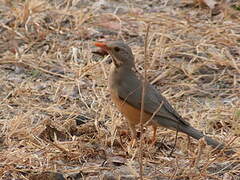
[(0, 2), (0, 177), (139, 177), (139, 148), (127, 152), (126, 121), (109, 99), (109, 65), (91, 51), (93, 41), (124, 39), (143, 72), (151, 23), (148, 80), (194, 127), (238, 153), (211, 154), (180, 134), (168, 158), (175, 132), (161, 129), (165, 148), (143, 146), (144, 179), (238, 179), (239, 2), (212, 16), (192, 1), (155, 2), (158, 12), (138, 1), (84, 2)]

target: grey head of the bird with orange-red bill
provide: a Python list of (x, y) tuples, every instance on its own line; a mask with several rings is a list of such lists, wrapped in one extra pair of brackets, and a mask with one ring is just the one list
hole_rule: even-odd
[(116, 67), (135, 67), (132, 50), (123, 41), (96, 42), (95, 46), (107, 52), (111, 56)]

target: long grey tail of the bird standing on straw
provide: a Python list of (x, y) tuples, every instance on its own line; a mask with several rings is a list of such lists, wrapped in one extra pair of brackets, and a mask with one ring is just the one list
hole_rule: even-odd
[(202, 132), (200, 132), (199, 130), (195, 129), (192, 126), (180, 126), (179, 127), (179, 131), (186, 133), (187, 135), (193, 137), (194, 139), (201, 139), (202, 137), (204, 137), (206, 143), (210, 146), (212, 146), (213, 148), (216, 148), (218, 150), (221, 150), (224, 148), (224, 144), (219, 143), (218, 141), (212, 139), (209, 136), (205, 136)]

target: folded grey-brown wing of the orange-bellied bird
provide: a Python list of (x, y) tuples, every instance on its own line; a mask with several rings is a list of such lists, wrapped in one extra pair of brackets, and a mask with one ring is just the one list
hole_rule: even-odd
[[(121, 82), (118, 83), (118, 96), (128, 104), (141, 108), (142, 99), (142, 81), (134, 72), (128, 72), (122, 76)], [(159, 109), (160, 108), (160, 109)], [(169, 104), (157, 90), (147, 83), (144, 98), (144, 111), (155, 114), (162, 118), (171, 119), (177, 123), (189, 125), (177, 111)], [(156, 112), (157, 111), (157, 112)]]

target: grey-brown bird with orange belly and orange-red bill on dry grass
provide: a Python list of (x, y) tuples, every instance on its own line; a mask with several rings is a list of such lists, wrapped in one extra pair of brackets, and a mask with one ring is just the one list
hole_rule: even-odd
[[(136, 125), (140, 123), (142, 89), (145, 88), (143, 100), (143, 124), (153, 128), (152, 141), (156, 140), (158, 127), (182, 132), (194, 139), (204, 138), (206, 144), (217, 150), (225, 146), (186, 121), (149, 82), (137, 72), (131, 48), (123, 41), (95, 42), (95, 46), (110, 55), (113, 61), (109, 75), (111, 99), (119, 111), (126, 117), (131, 132), (131, 142), (137, 139)], [(232, 154), (232, 151), (229, 153)]]

